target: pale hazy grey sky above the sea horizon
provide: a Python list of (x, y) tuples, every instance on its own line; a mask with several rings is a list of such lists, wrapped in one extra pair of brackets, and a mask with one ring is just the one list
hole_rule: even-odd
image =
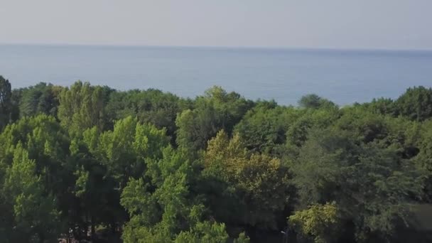
[(0, 43), (432, 49), (432, 0), (0, 0)]

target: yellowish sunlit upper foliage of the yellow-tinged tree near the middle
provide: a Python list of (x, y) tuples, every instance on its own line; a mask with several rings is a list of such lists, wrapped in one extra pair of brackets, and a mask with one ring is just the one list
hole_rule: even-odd
[(204, 165), (243, 191), (247, 200), (254, 200), (259, 208), (277, 210), (288, 200), (288, 175), (281, 168), (281, 161), (249, 153), (238, 134), (229, 139), (225, 131), (219, 131), (208, 143)]

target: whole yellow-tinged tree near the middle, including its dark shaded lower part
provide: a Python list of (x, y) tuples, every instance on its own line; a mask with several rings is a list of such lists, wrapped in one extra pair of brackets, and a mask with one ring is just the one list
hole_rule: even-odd
[[(206, 194), (215, 195), (210, 198), (215, 217), (264, 229), (277, 227), (276, 215), (291, 196), (288, 173), (279, 159), (248, 153), (237, 134), (229, 139), (222, 130), (209, 141), (204, 166), (207, 183), (222, 184), (206, 189)], [(231, 205), (223, 207), (227, 202)]]

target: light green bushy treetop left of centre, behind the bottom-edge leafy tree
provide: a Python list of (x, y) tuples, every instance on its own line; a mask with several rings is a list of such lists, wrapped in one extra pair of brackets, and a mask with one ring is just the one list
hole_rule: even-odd
[(99, 134), (97, 128), (84, 133), (85, 144), (105, 166), (110, 176), (124, 188), (130, 177), (138, 178), (144, 173), (147, 158), (160, 158), (169, 139), (165, 129), (151, 124), (140, 124), (126, 117), (114, 124), (113, 131)]

